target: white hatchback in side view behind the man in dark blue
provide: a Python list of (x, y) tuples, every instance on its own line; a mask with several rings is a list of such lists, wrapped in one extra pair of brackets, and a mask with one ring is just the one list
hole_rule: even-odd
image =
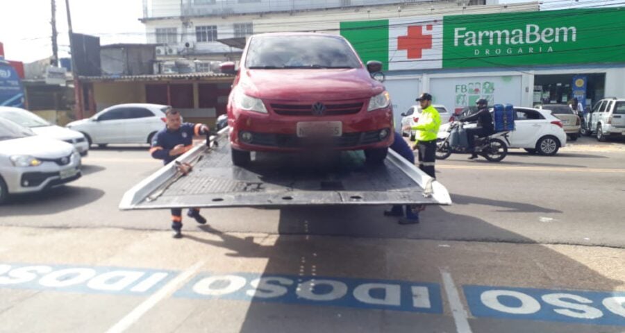
[(89, 119), (72, 121), (67, 128), (85, 135), (89, 145), (149, 144), (165, 126), (165, 112), (171, 106), (134, 103), (119, 104)]

